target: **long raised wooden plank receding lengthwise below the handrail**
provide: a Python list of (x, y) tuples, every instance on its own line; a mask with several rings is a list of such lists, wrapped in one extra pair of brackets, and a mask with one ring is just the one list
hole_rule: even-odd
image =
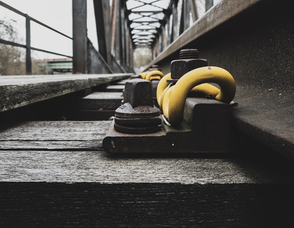
[(131, 74), (1, 76), (0, 111), (128, 78)]

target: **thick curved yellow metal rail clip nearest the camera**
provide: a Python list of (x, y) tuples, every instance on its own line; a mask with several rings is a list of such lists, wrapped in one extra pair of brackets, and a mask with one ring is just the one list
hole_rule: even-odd
[[(163, 80), (163, 78), (161, 80)], [(218, 90), (215, 86), (210, 84), (210, 86), (199, 86), (203, 83), (216, 83), (220, 86), (220, 89)], [(159, 86), (160, 83), (158, 84), (158, 88)], [(206, 92), (207, 95), (212, 94), (215, 96), (216, 100), (228, 104), (233, 100), (236, 92), (233, 76), (223, 68), (217, 66), (204, 66), (189, 71), (184, 74), (174, 86), (171, 86), (165, 91), (163, 97), (162, 94), (159, 96), (158, 104), (161, 103), (162, 99), (163, 116), (169, 123), (173, 125), (181, 124), (186, 98), (191, 89), (196, 86), (199, 87), (194, 89), (195, 91), (199, 90), (199, 92)], [(162, 90), (162, 87), (159, 89)], [(158, 93), (159, 92), (160, 91), (158, 91)]]

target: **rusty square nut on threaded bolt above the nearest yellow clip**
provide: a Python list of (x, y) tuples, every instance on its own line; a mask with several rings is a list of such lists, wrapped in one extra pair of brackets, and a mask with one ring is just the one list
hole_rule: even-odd
[(197, 49), (182, 49), (179, 59), (171, 61), (171, 78), (180, 79), (181, 76), (193, 69), (208, 66), (206, 59), (198, 59), (198, 57), (199, 51)]

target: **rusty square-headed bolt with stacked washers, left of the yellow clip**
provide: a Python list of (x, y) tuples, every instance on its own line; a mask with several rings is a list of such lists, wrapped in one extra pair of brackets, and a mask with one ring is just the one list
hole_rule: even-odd
[(151, 81), (126, 82), (123, 104), (115, 110), (114, 129), (129, 134), (146, 134), (160, 129), (160, 110), (154, 105)]

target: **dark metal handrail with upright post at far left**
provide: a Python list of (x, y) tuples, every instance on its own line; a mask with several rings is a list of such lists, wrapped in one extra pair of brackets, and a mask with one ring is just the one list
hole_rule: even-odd
[(57, 31), (56, 29), (51, 28), (50, 26), (48, 26), (48, 25), (46, 25), (46, 24), (44, 24), (44, 23), (42, 23), (42, 22), (40, 22), (40, 21), (38, 21), (38, 20), (36, 20), (36, 19), (34, 19), (32, 17), (30, 17), (28, 14), (24, 14), (23, 12), (21, 12), (21, 11), (7, 5), (6, 3), (4, 3), (2, 1), (0, 1), (0, 6), (3, 6), (4, 8), (9, 9), (9, 10), (15, 12), (16, 14), (19, 14), (19, 15), (24, 16), (26, 18), (26, 45), (18, 44), (18, 43), (15, 43), (15, 42), (0, 39), (1, 44), (8, 44), (8, 45), (12, 45), (12, 46), (18, 46), (18, 47), (26, 48), (26, 74), (32, 74), (31, 50), (42, 51), (42, 52), (46, 52), (46, 53), (49, 53), (49, 54), (61, 55), (61, 56), (66, 56), (66, 57), (70, 57), (70, 58), (73, 57), (73, 56), (59, 54), (59, 53), (52, 52), (52, 51), (47, 51), (47, 50), (31, 47), (31, 26), (30, 26), (31, 21), (34, 21), (34, 22), (46, 27), (47, 29), (51, 29), (52, 31), (54, 31), (56, 33), (59, 33), (62, 36), (65, 36), (65, 37), (67, 37), (69, 39), (73, 39), (73, 38), (70, 37), (70, 36), (67, 36), (66, 34), (63, 34), (60, 31)]

